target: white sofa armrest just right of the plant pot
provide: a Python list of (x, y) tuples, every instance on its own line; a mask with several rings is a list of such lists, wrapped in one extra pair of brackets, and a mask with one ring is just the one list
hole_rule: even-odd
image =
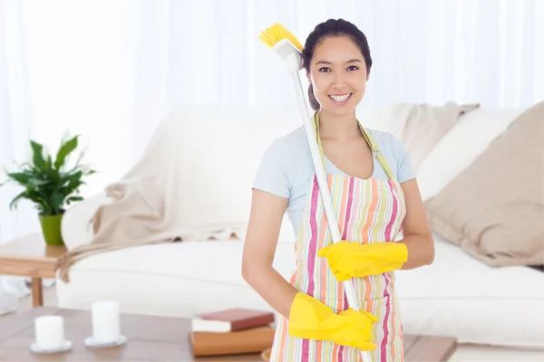
[(110, 203), (106, 193), (101, 192), (83, 200), (77, 205), (66, 210), (63, 215), (61, 230), (66, 248), (72, 250), (77, 246), (90, 243), (92, 240), (92, 216), (100, 205)]

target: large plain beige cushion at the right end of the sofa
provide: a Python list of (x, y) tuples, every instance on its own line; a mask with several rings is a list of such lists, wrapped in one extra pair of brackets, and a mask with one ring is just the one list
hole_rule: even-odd
[(489, 265), (544, 264), (543, 149), (541, 102), (426, 201), (432, 229)]

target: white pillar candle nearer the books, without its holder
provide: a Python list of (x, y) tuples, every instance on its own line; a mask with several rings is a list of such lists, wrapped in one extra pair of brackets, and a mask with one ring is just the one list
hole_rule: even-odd
[(119, 303), (97, 301), (92, 303), (92, 338), (95, 343), (114, 343), (121, 337)]

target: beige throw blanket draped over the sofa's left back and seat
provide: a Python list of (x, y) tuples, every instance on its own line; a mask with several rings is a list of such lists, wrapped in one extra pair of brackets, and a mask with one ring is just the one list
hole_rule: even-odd
[[(139, 162), (106, 187), (109, 202), (97, 209), (89, 224), (92, 241), (70, 250), (57, 263), (63, 281), (69, 281), (69, 269), (75, 262), (100, 252), (153, 243), (239, 239), (245, 233), (244, 223), (226, 219), (220, 224), (216, 220), (198, 224), (195, 220), (202, 220), (204, 214), (214, 214), (208, 211), (214, 205), (206, 205), (207, 200), (202, 200), (203, 205), (187, 205), (188, 195), (199, 185), (193, 182), (195, 167), (184, 162), (197, 139), (191, 133), (197, 132), (191, 130), (195, 127), (188, 122), (196, 120), (200, 119), (180, 119), (175, 114), (164, 119)], [(220, 180), (213, 185), (220, 189)], [(198, 214), (192, 219), (187, 217), (191, 209)]]

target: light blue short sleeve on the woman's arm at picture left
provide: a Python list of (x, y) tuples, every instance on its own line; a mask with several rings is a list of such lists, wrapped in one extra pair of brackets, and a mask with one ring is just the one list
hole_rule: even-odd
[(281, 139), (277, 139), (267, 148), (261, 159), (253, 188), (289, 198), (291, 194), (289, 179), (292, 172), (287, 145)]

